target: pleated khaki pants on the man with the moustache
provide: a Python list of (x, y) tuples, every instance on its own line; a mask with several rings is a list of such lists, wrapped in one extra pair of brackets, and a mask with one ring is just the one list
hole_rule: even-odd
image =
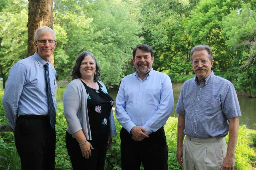
[(225, 138), (198, 139), (185, 137), (183, 164), (185, 170), (219, 170), (227, 153)]

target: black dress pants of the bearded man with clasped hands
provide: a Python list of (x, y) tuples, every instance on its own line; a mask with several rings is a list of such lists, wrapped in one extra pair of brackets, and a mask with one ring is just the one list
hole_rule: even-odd
[(124, 128), (120, 131), (122, 170), (168, 170), (168, 146), (164, 127), (142, 141), (135, 141)]

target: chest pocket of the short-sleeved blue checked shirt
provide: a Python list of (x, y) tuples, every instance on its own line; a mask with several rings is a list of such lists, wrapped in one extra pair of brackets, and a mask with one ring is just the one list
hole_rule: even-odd
[(204, 113), (214, 114), (221, 109), (221, 102), (219, 99), (205, 99)]

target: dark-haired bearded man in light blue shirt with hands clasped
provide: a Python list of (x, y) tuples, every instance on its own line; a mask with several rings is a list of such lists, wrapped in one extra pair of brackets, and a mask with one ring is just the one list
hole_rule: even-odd
[(173, 109), (170, 77), (153, 70), (153, 49), (147, 44), (133, 49), (135, 73), (123, 78), (116, 97), (116, 118), (123, 126), (122, 170), (167, 170), (168, 146), (164, 125)]

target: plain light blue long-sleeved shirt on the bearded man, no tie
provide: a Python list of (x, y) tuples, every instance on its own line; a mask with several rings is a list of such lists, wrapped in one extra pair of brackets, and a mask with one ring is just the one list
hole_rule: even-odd
[(116, 118), (130, 133), (142, 126), (145, 134), (157, 131), (166, 124), (173, 110), (173, 91), (170, 77), (151, 69), (141, 80), (137, 71), (123, 78), (116, 97)]

